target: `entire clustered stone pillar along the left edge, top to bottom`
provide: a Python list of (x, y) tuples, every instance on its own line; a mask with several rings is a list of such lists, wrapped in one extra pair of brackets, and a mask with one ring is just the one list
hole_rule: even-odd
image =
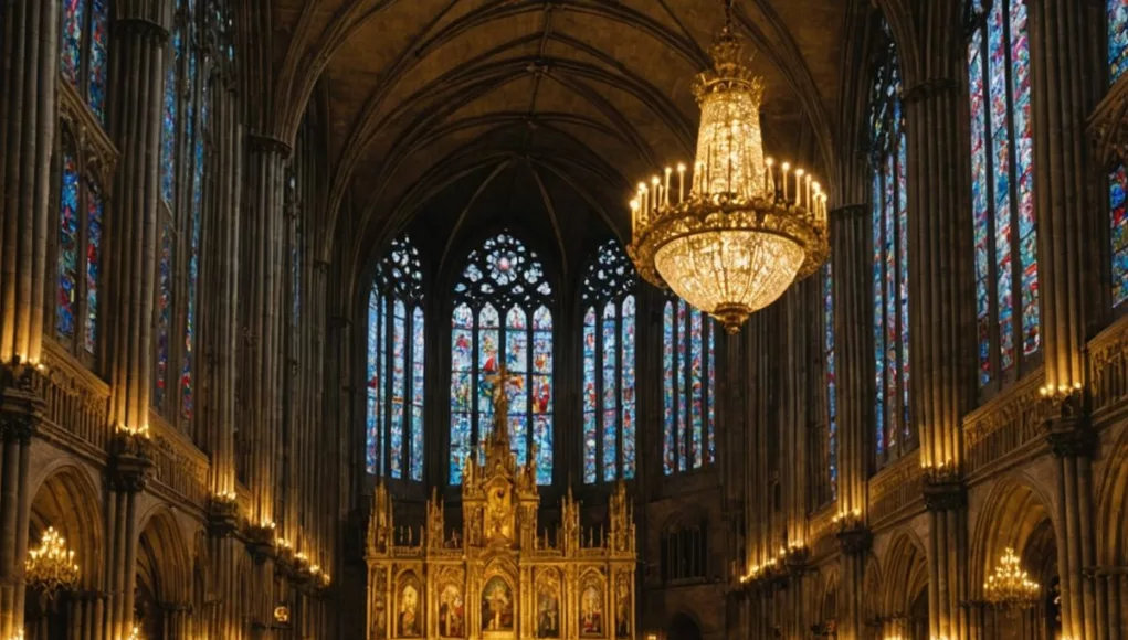
[(28, 446), (42, 412), (29, 393), (35, 372), (18, 363), (42, 355), (59, 3), (9, 0), (0, 23), (0, 638), (9, 638), (23, 624)]

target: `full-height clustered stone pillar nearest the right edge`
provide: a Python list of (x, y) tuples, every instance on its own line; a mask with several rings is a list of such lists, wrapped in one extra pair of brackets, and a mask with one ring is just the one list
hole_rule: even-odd
[(1102, 77), (1089, 55), (1090, 43), (1103, 35), (1087, 20), (1087, 2), (1030, 5), (1039, 295), (1051, 405), (1046, 428), (1057, 459), (1061, 625), (1073, 640), (1091, 640), (1107, 629), (1096, 624), (1094, 584), (1085, 575), (1095, 565), (1095, 534), (1084, 349), (1086, 310), (1096, 295), (1096, 287), (1085, 285), (1092, 282), (1087, 269), (1099, 264), (1085, 246), (1099, 208), (1091, 206), (1087, 190), (1092, 158), (1085, 122)]

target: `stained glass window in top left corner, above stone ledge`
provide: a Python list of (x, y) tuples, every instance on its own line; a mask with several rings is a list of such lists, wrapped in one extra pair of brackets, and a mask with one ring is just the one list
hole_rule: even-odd
[(103, 124), (109, 72), (109, 1), (61, 0), (60, 70)]

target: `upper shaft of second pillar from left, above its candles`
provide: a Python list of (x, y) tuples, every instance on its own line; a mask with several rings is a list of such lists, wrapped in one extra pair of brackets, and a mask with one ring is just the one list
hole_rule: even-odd
[(105, 373), (111, 427), (140, 433), (149, 425), (152, 388), (158, 148), (171, 2), (122, 0), (115, 10), (109, 133), (122, 157), (106, 215)]

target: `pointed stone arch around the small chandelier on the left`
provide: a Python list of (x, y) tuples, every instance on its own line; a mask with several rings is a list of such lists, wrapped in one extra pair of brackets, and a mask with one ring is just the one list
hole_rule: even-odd
[(32, 499), (28, 548), (38, 546), (43, 532), (54, 527), (74, 551), (79, 588), (97, 589), (105, 570), (102, 494), (89, 471), (68, 457), (44, 470), (29, 483)]

